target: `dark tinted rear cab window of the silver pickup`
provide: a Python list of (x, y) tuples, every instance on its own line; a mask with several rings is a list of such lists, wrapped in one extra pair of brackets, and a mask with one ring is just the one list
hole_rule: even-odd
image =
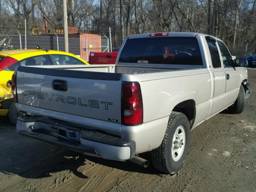
[(128, 39), (118, 62), (200, 65), (202, 56), (195, 37), (149, 37)]

